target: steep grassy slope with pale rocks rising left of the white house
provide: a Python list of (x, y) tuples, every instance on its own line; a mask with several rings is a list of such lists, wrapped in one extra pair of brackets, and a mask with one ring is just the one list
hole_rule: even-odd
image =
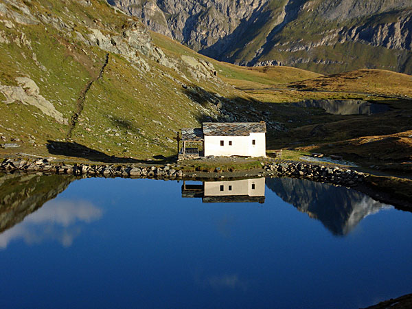
[(4, 155), (168, 157), (180, 128), (260, 120), (206, 58), (166, 55), (106, 1), (3, 1), (0, 62)]

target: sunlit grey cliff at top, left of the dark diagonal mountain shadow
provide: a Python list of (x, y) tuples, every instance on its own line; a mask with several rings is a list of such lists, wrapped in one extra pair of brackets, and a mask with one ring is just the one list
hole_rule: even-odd
[[(140, 17), (150, 29), (171, 36), (196, 51), (216, 45), (212, 52), (230, 42), (220, 42), (251, 20), (268, 0), (111, 0), (109, 3)], [(242, 25), (241, 25), (242, 24)], [(211, 55), (211, 54), (208, 54)]]

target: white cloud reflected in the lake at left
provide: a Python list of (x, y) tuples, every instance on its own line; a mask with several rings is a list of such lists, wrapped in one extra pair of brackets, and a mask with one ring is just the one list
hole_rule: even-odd
[(82, 231), (81, 222), (93, 222), (102, 217), (102, 209), (88, 201), (53, 200), (27, 216), (23, 222), (0, 234), (0, 249), (12, 240), (22, 239), (26, 244), (56, 240), (70, 247)]

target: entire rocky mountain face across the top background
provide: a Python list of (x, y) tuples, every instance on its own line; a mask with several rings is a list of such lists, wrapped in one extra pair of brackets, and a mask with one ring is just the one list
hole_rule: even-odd
[(412, 73), (409, 0), (109, 0), (152, 30), (240, 65)]

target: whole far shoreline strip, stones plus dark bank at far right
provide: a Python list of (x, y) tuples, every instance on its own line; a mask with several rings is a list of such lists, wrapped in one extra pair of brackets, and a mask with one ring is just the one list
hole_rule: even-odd
[[(241, 165), (240, 165), (241, 166)], [(349, 168), (334, 165), (318, 165), (302, 162), (261, 163), (261, 168), (252, 170), (235, 170), (232, 172), (202, 172), (198, 170), (183, 170), (187, 165), (179, 163), (168, 164), (88, 164), (54, 162), (52, 159), (3, 159), (0, 172), (12, 174), (23, 172), (27, 174), (71, 174), (82, 178), (130, 178), (159, 180), (192, 180), (192, 181), (230, 181), (235, 179), (258, 177), (288, 177), (306, 179), (330, 185), (344, 186), (367, 194), (380, 203), (393, 205), (397, 209), (412, 211), (412, 202), (408, 194), (400, 194), (393, 190), (399, 185), (400, 179), (394, 177), (376, 176), (358, 172)], [(385, 181), (382, 182), (382, 181)], [(407, 188), (412, 185), (407, 183)], [(410, 192), (411, 190), (407, 190)]]

